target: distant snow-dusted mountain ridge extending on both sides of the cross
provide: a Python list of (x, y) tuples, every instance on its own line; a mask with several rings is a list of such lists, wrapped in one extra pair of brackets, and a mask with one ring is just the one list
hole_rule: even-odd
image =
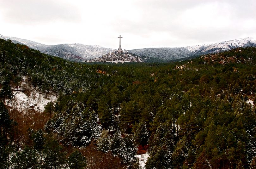
[[(33, 42), (30, 40), (20, 39), (16, 37), (5, 37), (0, 35), (0, 38), (4, 40), (10, 39), (14, 43), (27, 45), (29, 48), (39, 50), (40, 52), (45, 54), (58, 56), (67, 60), (78, 62), (109, 61), (110, 58), (106, 57), (107, 54), (110, 54), (115, 51), (115, 49), (104, 48), (98, 45), (92, 46), (78, 43), (45, 45), (38, 42)], [(137, 60), (143, 60), (143, 62), (169, 62), (173, 60), (186, 59), (187, 57), (193, 57), (203, 54), (223, 52), (238, 47), (256, 47), (256, 39), (242, 38), (207, 45), (187, 46), (180, 48), (133, 49), (129, 50), (129, 54), (133, 54), (133, 56), (137, 57)], [(123, 58), (123, 60), (127, 60), (127, 58)]]

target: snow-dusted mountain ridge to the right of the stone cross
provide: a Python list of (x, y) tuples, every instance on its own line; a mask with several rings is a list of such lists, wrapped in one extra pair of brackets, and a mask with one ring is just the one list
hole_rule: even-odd
[(145, 61), (166, 62), (202, 54), (223, 52), (238, 47), (256, 47), (256, 39), (243, 38), (208, 45), (188, 46), (182, 48), (134, 49), (130, 50), (129, 52), (136, 54), (139, 57), (145, 57), (143, 58)]

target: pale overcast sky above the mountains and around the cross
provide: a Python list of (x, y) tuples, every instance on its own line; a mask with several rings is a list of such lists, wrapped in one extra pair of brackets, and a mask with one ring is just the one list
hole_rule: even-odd
[(183, 47), (256, 37), (255, 0), (0, 0), (0, 34), (48, 45)]

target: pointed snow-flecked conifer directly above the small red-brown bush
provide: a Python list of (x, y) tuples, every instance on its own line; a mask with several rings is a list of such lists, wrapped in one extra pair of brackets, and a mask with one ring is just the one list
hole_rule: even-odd
[(143, 147), (148, 144), (149, 132), (146, 127), (146, 123), (141, 121), (139, 122), (136, 132), (134, 133), (135, 142), (141, 144)]

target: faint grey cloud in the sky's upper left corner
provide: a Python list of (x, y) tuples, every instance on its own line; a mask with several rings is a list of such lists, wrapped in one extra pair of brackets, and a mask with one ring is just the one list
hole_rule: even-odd
[(80, 14), (74, 5), (51, 0), (8, 0), (0, 9), (6, 22), (15, 24), (44, 24), (64, 21), (78, 22)]

